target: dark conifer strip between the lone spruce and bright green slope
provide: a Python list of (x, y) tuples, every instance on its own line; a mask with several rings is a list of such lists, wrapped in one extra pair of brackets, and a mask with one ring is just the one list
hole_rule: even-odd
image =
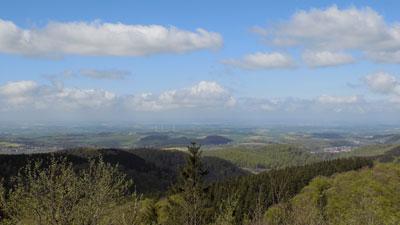
[[(217, 212), (229, 196), (237, 194), (239, 207), (235, 209), (234, 224), (243, 224), (246, 218), (253, 220), (260, 207), (267, 209), (293, 197), (316, 176), (330, 176), (365, 166), (372, 166), (372, 161), (363, 158), (335, 159), (215, 182), (210, 186), (208, 205), (213, 207), (211, 211)], [(209, 218), (213, 216), (207, 215)]]

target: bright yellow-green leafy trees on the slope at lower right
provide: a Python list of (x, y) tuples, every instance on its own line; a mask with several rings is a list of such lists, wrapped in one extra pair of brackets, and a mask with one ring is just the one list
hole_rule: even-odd
[[(399, 224), (400, 165), (378, 164), (334, 175), (317, 177), (290, 207), (271, 207), (265, 213), (266, 224)], [(275, 215), (283, 215), (280, 220)]]

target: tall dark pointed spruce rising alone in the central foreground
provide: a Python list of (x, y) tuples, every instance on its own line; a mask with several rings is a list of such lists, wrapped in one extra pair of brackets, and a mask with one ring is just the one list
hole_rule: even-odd
[(180, 195), (180, 201), (172, 205), (176, 205), (174, 208), (180, 211), (181, 222), (186, 225), (200, 225), (204, 219), (207, 187), (203, 178), (208, 171), (202, 166), (200, 147), (195, 142), (188, 146), (186, 165), (179, 168), (179, 182), (173, 187), (174, 192)]

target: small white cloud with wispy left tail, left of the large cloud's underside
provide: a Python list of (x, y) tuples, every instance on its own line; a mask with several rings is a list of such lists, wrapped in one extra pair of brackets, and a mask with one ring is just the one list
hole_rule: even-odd
[(222, 59), (221, 63), (231, 65), (247, 70), (265, 70), (274, 68), (294, 68), (295, 60), (287, 55), (279, 52), (261, 53), (244, 55), (242, 61), (235, 59)]

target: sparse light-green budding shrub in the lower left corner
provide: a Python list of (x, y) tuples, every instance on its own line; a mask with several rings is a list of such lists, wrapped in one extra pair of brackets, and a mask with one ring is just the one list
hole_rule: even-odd
[(3, 223), (126, 224), (129, 220), (134, 224), (137, 220), (138, 197), (128, 195), (132, 181), (101, 157), (89, 160), (88, 168), (79, 172), (65, 158), (53, 156), (49, 166), (35, 161), (12, 183)]

